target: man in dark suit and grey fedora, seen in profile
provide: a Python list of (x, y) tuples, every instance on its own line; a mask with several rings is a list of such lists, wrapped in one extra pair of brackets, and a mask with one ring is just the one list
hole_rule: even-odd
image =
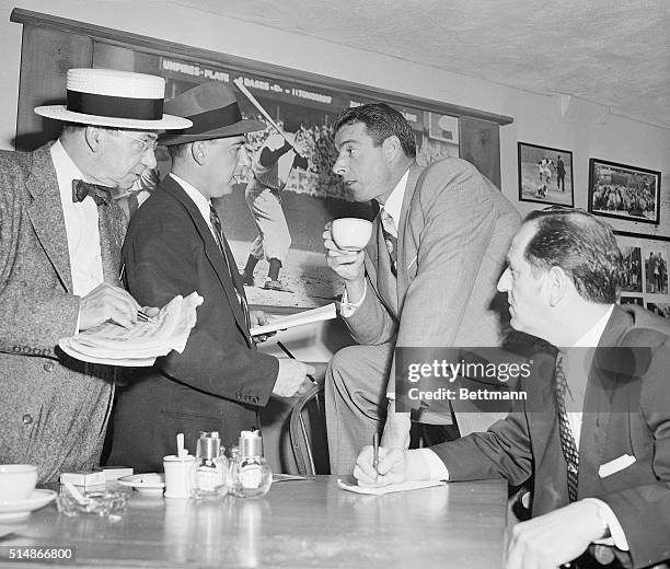
[(247, 309), (211, 205), (250, 164), (244, 135), (265, 125), (242, 119), (233, 92), (219, 83), (190, 89), (166, 108), (193, 127), (161, 139), (172, 171), (132, 217), (125, 281), (142, 304), (162, 305), (194, 290), (205, 300), (184, 351), (141, 370), (119, 393), (108, 462), (139, 472), (162, 467), (177, 432), (192, 452), (198, 431), (219, 431), (222, 444), (236, 444), (241, 430), (257, 426), (256, 411), (270, 394), (291, 396), (313, 373), (302, 362), (256, 351), (250, 326), (266, 316)]

